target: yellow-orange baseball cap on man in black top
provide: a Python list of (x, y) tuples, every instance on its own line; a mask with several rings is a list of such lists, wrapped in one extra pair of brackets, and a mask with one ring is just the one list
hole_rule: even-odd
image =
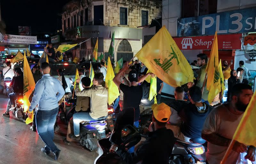
[(151, 108), (157, 121), (162, 123), (167, 123), (169, 121), (172, 112), (168, 105), (162, 102), (161, 104), (152, 105)]

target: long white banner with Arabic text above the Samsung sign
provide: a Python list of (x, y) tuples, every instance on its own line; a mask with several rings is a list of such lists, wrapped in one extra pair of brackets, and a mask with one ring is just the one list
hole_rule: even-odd
[(7, 34), (3, 40), (5, 43), (36, 44), (36, 36), (21, 36)]

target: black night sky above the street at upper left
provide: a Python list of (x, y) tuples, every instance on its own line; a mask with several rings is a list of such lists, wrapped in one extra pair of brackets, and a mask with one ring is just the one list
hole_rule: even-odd
[(70, 0), (0, 0), (6, 34), (18, 35), (18, 26), (31, 26), (32, 35), (61, 29), (62, 7)]

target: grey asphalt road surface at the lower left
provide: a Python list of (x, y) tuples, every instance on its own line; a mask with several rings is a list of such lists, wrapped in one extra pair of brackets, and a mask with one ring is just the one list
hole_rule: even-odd
[(38, 134), (30, 130), (31, 125), (10, 117), (2, 116), (6, 110), (8, 98), (0, 94), (0, 164), (13, 163), (85, 163), (92, 164), (98, 156), (96, 152), (86, 150), (78, 142), (66, 145), (63, 139), (67, 135), (67, 125), (60, 122), (60, 131), (54, 134), (54, 143), (61, 150), (58, 161), (54, 155), (41, 152), (44, 143)]

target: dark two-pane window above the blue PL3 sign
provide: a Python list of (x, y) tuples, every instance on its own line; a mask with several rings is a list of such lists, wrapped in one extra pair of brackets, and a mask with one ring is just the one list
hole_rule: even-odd
[(199, 15), (213, 14), (217, 12), (218, 0), (182, 0), (181, 3), (181, 17), (197, 17), (198, 3)]

